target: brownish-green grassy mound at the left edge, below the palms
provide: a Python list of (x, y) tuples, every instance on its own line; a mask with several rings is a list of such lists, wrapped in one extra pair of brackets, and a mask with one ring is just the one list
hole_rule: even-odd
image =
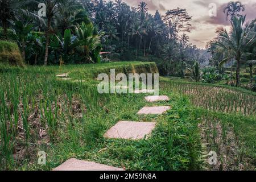
[(0, 63), (23, 66), (22, 56), (16, 43), (5, 40), (0, 41)]

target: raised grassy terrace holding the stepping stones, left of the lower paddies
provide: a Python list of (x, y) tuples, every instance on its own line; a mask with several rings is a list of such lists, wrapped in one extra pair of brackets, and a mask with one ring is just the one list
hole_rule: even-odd
[[(160, 94), (171, 100), (148, 104), (144, 94), (99, 94), (95, 86), (56, 78), (69, 72), (74, 80), (84, 74), (93, 82), (95, 69), (109, 72), (115, 65), (156, 71), (151, 70), (154, 63), (129, 62), (1, 73), (1, 169), (49, 170), (73, 157), (126, 169), (200, 169), (198, 121), (186, 97), (163, 89)], [(136, 114), (147, 105), (171, 105), (172, 110), (158, 116)], [(120, 120), (158, 124), (148, 139), (105, 139), (105, 131)], [(38, 165), (38, 151), (46, 151), (46, 166)]]

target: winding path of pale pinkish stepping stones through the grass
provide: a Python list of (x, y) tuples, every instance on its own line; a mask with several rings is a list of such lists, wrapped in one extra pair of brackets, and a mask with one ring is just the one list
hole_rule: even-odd
[[(60, 78), (68, 78), (68, 74), (64, 73), (56, 75)], [(135, 90), (134, 93), (153, 93), (154, 90)], [(167, 96), (147, 96), (144, 97), (147, 102), (169, 101)], [(153, 106), (143, 107), (137, 114), (163, 114), (171, 106)], [(136, 122), (136, 121), (119, 121), (104, 134), (105, 138), (113, 139), (143, 139), (148, 138), (152, 130), (154, 130), (155, 122)], [(122, 168), (107, 166), (85, 160), (69, 159), (53, 171), (124, 171)]]

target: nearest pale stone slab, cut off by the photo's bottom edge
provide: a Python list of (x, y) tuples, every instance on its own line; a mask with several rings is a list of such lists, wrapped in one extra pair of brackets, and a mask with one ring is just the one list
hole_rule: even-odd
[(78, 160), (75, 158), (68, 159), (60, 166), (53, 169), (53, 171), (125, 171), (122, 168), (113, 166), (107, 166), (104, 164), (98, 164), (89, 162), (86, 160)]

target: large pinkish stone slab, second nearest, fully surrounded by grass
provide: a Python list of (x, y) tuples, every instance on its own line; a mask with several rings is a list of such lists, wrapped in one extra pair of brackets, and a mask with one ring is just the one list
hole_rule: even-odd
[(105, 138), (143, 139), (155, 128), (154, 122), (119, 121), (105, 134)]

